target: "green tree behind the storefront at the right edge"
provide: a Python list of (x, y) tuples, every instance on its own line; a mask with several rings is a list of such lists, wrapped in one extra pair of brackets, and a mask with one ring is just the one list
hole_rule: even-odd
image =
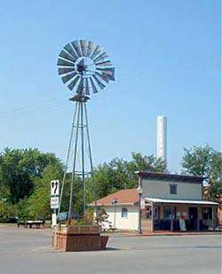
[(185, 148), (182, 168), (183, 173), (207, 178), (207, 183), (210, 184), (211, 200), (217, 200), (222, 194), (222, 153), (209, 145)]

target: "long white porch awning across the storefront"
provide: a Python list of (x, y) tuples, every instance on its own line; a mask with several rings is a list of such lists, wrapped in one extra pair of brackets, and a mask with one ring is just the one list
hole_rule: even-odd
[(212, 205), (217, 206), (218, 203), (210, 200), (170, 200), (159, 198), (145, 198), (147, 202), (164, 203), (164, 204), (194, 204), (194, 205)]

